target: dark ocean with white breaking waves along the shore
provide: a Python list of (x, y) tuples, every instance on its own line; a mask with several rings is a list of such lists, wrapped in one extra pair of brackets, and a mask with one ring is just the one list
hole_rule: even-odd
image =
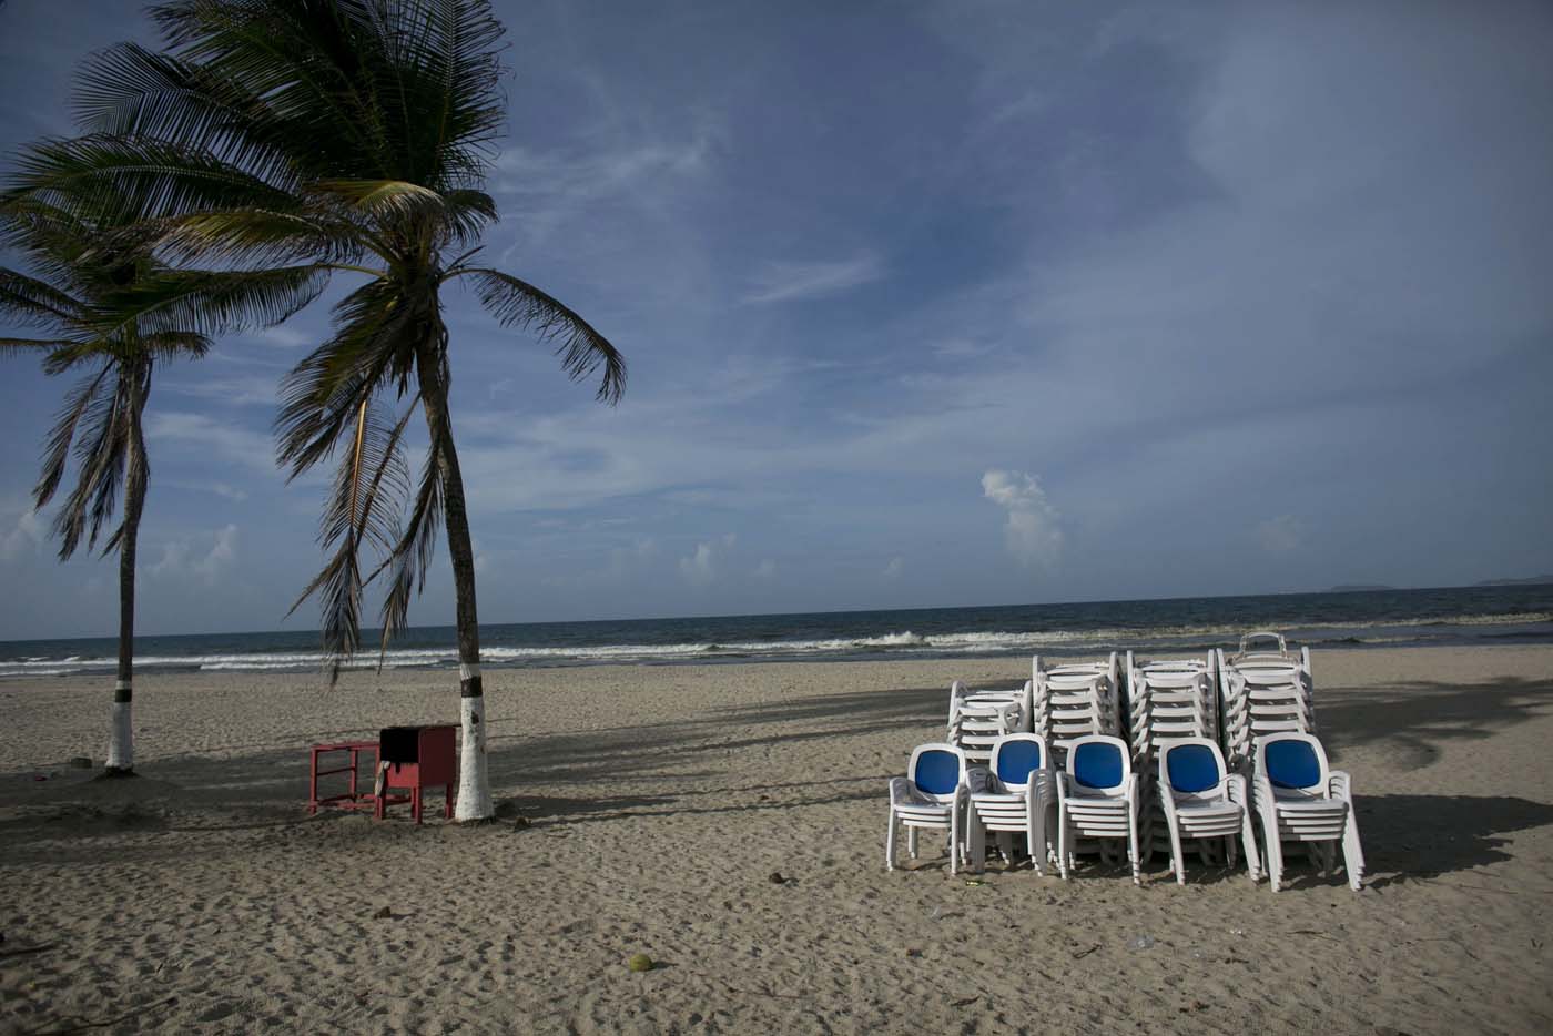
[[(517, 623), (483, 626), (480, 638), (486, 666), (564, 666), (1205, 649), (1235, 646), (1249, 629), (1328, 648), (1553, 643), (1553, 586)], [(143, 673), (320, 665), (317, 632), (140, 637), (135, 651)], [(0, 679), (107, 674), (115, 652), (112, 638), (0, 641)], [(377, 654), (362, 655), (359, 665), (377, 665)], [(396, 669), (453, 665), (450, 626), (407, 631), (385, 660)]]

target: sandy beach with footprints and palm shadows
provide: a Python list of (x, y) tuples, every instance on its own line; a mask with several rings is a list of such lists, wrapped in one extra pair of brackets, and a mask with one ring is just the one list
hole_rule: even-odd
[(969, 885), (936, 845), (887, 873), (885, 783), (949, 682), (1027, 666), (492, 669), (502, 822), (419, 829), (309, 817), (307, 746), (455, 721), (449, 673), (141, 677), (130, 781), (67, 767), (101, 763), (102, 680), (6, 682), (0, 1030), (1553, 1027), (1553, 648), (1317, 654), (1357, 895), (1303, 859), (1277, 895), (1194, 857), (1185, 887), (1160, 857)]

